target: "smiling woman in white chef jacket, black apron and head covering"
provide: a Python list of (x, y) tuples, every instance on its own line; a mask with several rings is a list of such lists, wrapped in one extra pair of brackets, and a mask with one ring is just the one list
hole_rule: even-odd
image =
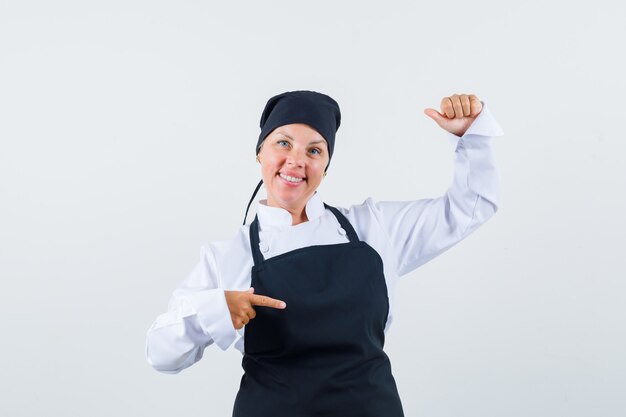
[(454, 94), (441, 110), (425, 113), (456, 142), (446, 193), (345, 209), (316, 192), (341, 123), (337, 102), (314, 91), (270, 98), (256, 147), (267, 199), (233, 239), (202, 247), (148, 330), (148, 362), (177, 373), (239, 334), (234, 417), (403, 416), (383, 351), (397, 279), (483, 224), (499, 194), (491, 137), (502, 130), (484, 102)]

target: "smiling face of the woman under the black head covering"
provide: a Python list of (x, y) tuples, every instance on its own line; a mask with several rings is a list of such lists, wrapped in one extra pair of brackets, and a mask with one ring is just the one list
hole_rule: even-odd
[(302, 215), (330, 160), (324, 137), (303, 123), (279, 126), (267, 135), (258, 156), (267, 205)]

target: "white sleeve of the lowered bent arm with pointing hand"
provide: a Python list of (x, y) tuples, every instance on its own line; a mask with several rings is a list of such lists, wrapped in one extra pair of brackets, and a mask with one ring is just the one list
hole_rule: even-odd
[(163, 373), (178, 373), (202, 358), (204, 349), (215, 343), (226, 350), (237, 337), (216, 260), (209, 247), (176, 288), (167, 312), (148, 329), (145, 355), (148, 363)]

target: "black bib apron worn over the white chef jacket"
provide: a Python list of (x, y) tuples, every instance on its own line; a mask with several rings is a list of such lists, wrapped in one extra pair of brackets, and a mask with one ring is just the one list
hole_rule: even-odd
[(233, 417), (403, 417), (383, 351), (389, 312), (383, 262), (335, 207), (349, 242), (267, 260), (250, 224), (254, 293), (287, 303), (255, 306), (244, 334), (244, 375)]

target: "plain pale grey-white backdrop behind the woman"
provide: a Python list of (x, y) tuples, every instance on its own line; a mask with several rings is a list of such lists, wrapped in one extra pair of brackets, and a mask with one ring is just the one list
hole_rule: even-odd
[(296, 89), (341, 106), (320, 193), (343, 207), (443, 194), (454, 149), (423, 110), (445, 96), (504, 130), (498, 213), (398, 284), (407, 417), (626, 415), (625, 21), (602, 0), (0, 1), (0, 415), (231, 415), (233, 346), (165, 375), (145, 333), (241, 224), (263, 106)]

